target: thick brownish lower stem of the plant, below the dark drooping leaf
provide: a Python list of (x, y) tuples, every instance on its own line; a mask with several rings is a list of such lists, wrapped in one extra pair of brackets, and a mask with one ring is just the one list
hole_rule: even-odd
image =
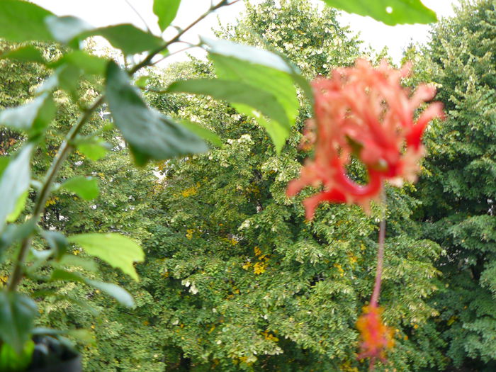
[[(55, 181), (55, 177), (57, 176), (60, 167), (62, 167), (62, 163), (64, 162), (65, 158), (72, 150), (72, 142), (79, 133), (79, 130), (81, 130), (81, 127), (84, 125), (84, 123), (86, 123), (86, 121), (89, 120), (89, 118), (91, 118), (91, 115), (94, 113), (96, 108), (101, 105), (102, 102), (103, 96), (100, 96), (89, 108), (86, 109), (86, 111), (84, 111), (84, 113), (77, 120), (77, 123), (74, 124), (71, 130), (69, 130), (69, 133), (67, 133), (64, 142), (62, 142), (62, 145), (60, 145), (59, 151), (52, 161), (50, 169), (48, 169), (47, 174), (45, 175), (45, 181), (43, 181), (43, 185), (38, 192), (38, 196), (36, 197), (35, 207), (33, 209), (31, 220), (38, 222), (38, 220), (40, 219), (43, 210), (45, 210), (45, 204), (47, 203), (48, 196), (50, 196), (50, 191), (52, 188), (52, 184)], [(23, 242), (21, 243), (21, 249), (19, 250), (16, 264), (9, 279), (9, 285), (7, 286), (8, 291), (15, 291), (18, 284), (21, 282), (21, 279), (23, 278), (23, 264), (24, 260), (26, 259), (26, 254), (28, 254), (29, 248), (31, 247), (32, 239), (33, 238), (31, 236), (28, 236), (23, 239)]]

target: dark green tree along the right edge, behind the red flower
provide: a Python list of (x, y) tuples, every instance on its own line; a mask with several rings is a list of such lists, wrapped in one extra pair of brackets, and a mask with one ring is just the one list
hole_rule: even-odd
[(446, 254), (436, 328), (454, 366), (496, 368), (496, 3), (463, 4), (442, 21), (419, 64), (439, 86), (447, 119), (427, 135), (417, 186), (425, 237)]

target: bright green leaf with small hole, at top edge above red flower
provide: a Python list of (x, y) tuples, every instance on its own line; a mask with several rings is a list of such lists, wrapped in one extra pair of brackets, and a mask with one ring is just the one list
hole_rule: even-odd
[(386, 25), (436, 22), (436, 13), (420, 0), (323, 0), (328, 6), (348, 13), (370, 16)]

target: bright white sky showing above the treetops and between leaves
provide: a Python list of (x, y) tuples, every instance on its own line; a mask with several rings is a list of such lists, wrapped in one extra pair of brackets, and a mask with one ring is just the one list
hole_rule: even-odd
[[(115, 23), (133, 23), (135, 26), (145, 28), (143, 21), (136, 15), (125, 0), (32, 1), (59, 16), (78, 16), (96, 27), (108, 26)], [(130, 4), (133, 4), (142, 18), (145, 19), (151, 30), (158, 34), (159, 28), (157, 26), (157, 17), (154, 16), (152, 11), (153, 0), (128, 1)], [(458, 4), (458, 0), (422, 0), (422, 2), (436, 11), (439, 18), (451, 16), (453, 14), (452, 4)], [(201, 13), (208, 9), (208, 6), (210, 6), (210, 0), (182, 0), (178, 16), (173, 23), (174, 26), (187, 26), (191, 21), (198, 18)], [(235, 23), (243, 8), (243, 1), (239, 1), (237, 4), (218, 11), (217, 16), (220, 18), (222, 24)], [(196, 43), (198, 40), (196, 35), (213, 36), (210, 29), (217, 26), (217, 16), (210, 15), (196, 28), (190, 30), (184, 40)], [(377, 51), (388, 46), (390, 55), (396, 62), (400, 60), (403, 48), (408, 45), (410, 41), (424, 43), (429, 37), (429, 26), (427, 25), (385, 26), (383, 23), (374, 21), (372, 18), (347, 13), (343, 13), (339, 20), (342, 25), (348, 25), (351, 27), (351, 30), (360, 32), (361, 40), (366, 44), (370, 44)], [(170, 31), (172, 35), (174, 35), (174, 30)], [(193, 55), (199, 56), (201, 55), (201, 52), (193, 53)], [(182, 59), (184, 59), (184, 57), (185, 56), (183, 56)], [(177, 59), (178, 58), (176, 58), (176, 60)], [(181, 57), (179, 57), (179, 59), (181, 59)]]

